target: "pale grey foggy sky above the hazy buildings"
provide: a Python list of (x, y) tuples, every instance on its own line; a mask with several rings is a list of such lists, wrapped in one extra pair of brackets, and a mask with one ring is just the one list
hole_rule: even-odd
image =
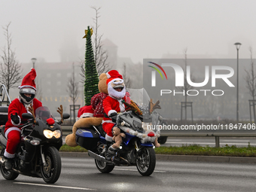
[[(0, 0), (0, 25), (11, 22), (12, 47), (19, 62), (32, 57), (59, 62), (63, 47), (78, 49), (84, 57), (84, 29), (93, 26), (101, 7), (99, 33), (118, 47), (118, 56), (133, 62), (162, 58), (163, 54), (224, 56), (256, 55), (256, 1), (239, 0)], [(0, 30), (0, 47), (5, 46)], [(80, 60), (81, 58), (78, 58)]]

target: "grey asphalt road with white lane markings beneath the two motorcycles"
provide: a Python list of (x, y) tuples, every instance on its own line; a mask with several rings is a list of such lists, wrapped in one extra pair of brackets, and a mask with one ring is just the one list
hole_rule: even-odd
[(23, 175), (6, 181), (0, 175), (0, 191), (255, 191), (255, 172), (254, 164), (158, 160), (150, 177), (142, 177), (135, 166), (117, 166), (102, 174), (93, 159), (62, 157), (62, 173), (55, 184)]

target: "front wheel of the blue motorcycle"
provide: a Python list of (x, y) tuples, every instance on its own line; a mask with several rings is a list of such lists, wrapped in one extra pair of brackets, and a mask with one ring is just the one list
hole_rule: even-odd
[(149, 176), (156, 166), (156, 154), (153, 148), (142, 148), (136, 159), (136, 166), (142, 176)]

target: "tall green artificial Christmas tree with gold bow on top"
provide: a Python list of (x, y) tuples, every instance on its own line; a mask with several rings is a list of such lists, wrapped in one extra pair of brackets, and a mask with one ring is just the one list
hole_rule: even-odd
[(84, 38), (87, 39), (85, 47), (85, 67), (84, 67), (84, 102), (85, 105), (90, 105), (90, 99), (97, 93), (98, 89), (98, 73), (96, 69), (96, 64), (93, 56), (93, 45), (91, 41), (91, 35), (93, 35), (93, 29), (88, 26), (85, 30)]

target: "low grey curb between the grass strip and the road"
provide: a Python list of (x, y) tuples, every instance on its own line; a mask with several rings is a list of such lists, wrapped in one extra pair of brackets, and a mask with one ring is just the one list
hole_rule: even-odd
[[(60, 157), (84, 157), (91, 158), (87, 152), (59, 152)], [(215, 163), (256, 163), (256, 157), (224, 157), (224, 156), (200, 156), (200, 155), (175, 155), (156, 154), (157, 160), (163, 161), (194, 161)]]

